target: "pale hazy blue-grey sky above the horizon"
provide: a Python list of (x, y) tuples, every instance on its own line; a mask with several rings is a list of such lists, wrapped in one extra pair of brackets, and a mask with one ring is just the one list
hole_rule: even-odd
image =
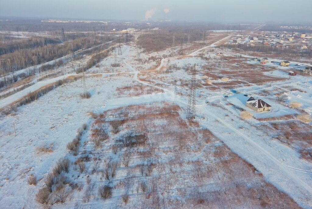
[(190, 21), (311, 21), (312, 0), (0, 0), (0, 16)]

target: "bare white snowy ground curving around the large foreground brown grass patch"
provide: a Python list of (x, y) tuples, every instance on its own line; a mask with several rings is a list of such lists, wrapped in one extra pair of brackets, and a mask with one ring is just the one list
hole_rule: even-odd
[[(156, 68), (156, 72), (173, 63), (179, 66), (185, 66), (189, 63), (203, 65), (204, 63), (201, 63), (203, 62), (202, 59), (196, 56), (214, 47), (216, 44), (211, 44), (189, 54), (193, 57), (162, 59), (160, 66)], [(79, 80), (57, 87), (40, 97), (36, 102), (19, 107), (16, 114), (4, 116), (0, 119), (0, 164), (3, 168), (0, 172), (0, 204), (3, 208), (38, 207), (34, 201), (34, 196), (38, 189), (42, 187), (47, 173), (52, 170), (52, 167), (60, 157), (67, 155), (66, 144), (74, 138), (77, 128), (83, 123), (87, 123), (89, 127), (93, 123), (94, 119), (90, 118), (88, 111), (102, 113), (113, 108), (160, 101), (173, 101), (182, 110), (185, 110), (188, 101), (187, 85), (182, 86), (181, 88), (184, 91), (180, 91), (180, 94), (177, 94), (177, 86), (172, 83), (174, 79), (188, 80), (189, 72), (180, 69), (178, 71), (173, 70), (168, 74), (156, 74), (156, 76), (150, 79), (153, 82), (150, 82), (148, 81), (149, 74), (138, 75), (139, 70), (136, 68), (136, 61), (133, 61), (137, 56), (138, 49), (128, 46), (123, 48), (125, 48), (125, 55), (121, 59), (125, 68), (120, 68), (120, 71), (127, 74), (121, 74), (122, 72), (100, 72), (103, 77), (87, 78), (86, 86), (91, 93), (90, 99), (80, 99), (79, 94), (83, 91), (83, 88), (81, 80)], [(110, 56), (109, 59), (106, 59), (107, 63), (103, 62), (100, 65), (109, 67), (109, 60), (112, 59), (114, 59), (114, 56)], [(90, 71), (92, 70), (96, 69), (92, 68)], [(285, 73), (279, 70), (265, 73), (267, 76), (273, 76), (274, 78), (286, 78)], [(112, 76), (109, 77), (110, 75)], [(141, 77), (147, 80), (142, 80), (140, 79)], [(60, 77), (55, 79), (60, 79)], [(46, 83), (50, 83), (51, 80), (48, 80)], [(263, 134), (263, 130), (258, 127), (262, 123), (258, 120), (246, 121), (239, 116), (239, 108), (252, 111), (244, 104), (247, 98), (243, 96), (244, 93), (261, 98), (273, 105), (273, 111), (271, 112), (254, 113), (256, 118), (299, 114), (301, 113), (300, 111), (287, 107), (290, 101), (297, 100), (302, 101), (304, 109), (311, 114), (312, 83), (305, 84), (305, 81), (306, 77), (297, 75), (290, 80), (287, 79), (274, 83), (262, 85), (251, 83), (252, 85), (242, 85), (236, 89), (242, 94), (232, 94), (227, 89), (209, 91), (201, 88), (197, 92), (196, 110), (198, 117), (196, 122), (203, 128), (209, 129), (232, 151), (254, 165), (256, 170), (260, 171), (269, 183), (287, 193), (301, 207), (312, 208), (311, 163), (303, 160), (300, 157), (300, 153), (296, 150), (285, 146), (278, 140), (272, 139), (269, 135)], [(158, 85), (161, 82), (162, 84)], [(40, 82), (37, 82), (35, 85), (39, 84)], [(137, 84), (158, 88), (163, 93), (115, 98), (116, 88)], [(32, 90), (35, 90), (35, 87), (33, 88)], [(262, 95), (264, 90), (273, 91), (275, 88), (299, 88), (304, 89), (306, 93), (290, 91), (284, 103), (277, 102), (273, 94), (268, 96)], [(21, 91), (20, 94), (16, 93), (8, 97), (7, 100), (1, 100), (1, 104), (2, 101), (7, 101), (8, 103), (9, 101), (17, 100), (25, 93), (27, 93), (27, 90)], [(224, 98), (225, 94), (229, 95), (229, 97)], [(205, 100), (209, 100), (211, 103), (207, 105)], [(228, 103), (232, 103), (238, 108), (227, 105)], [(181, 111), (181, 115), (185, 117), (183, 111)], [(163, 124), (164, 122), (158, 122), (156, 125), (165, 125)], [(14, 136), (13, 123), (17, 133), (16, 137)], [(89, 139), (88, 135), (85, 134), (82, 140), (88, 141)], [(37, 152), (37, 148), (42, 146), (51, 146), (52, 152), (49, 154)], [(27, 184), (27, 178), (30, 174), (35, 174), (38, 179), (42, 179), (36, 187)], [(188, 185), (188, 183), (186, 184)], [(176, 198), (178, 195), (174, 197)], [(92, 201), (92, 204), (90, 203), (89, 205), (90, 208), (96, 208), (98, 202), (98, 200)], [(114, 203), (110, 202), (110, 204)], [(72, 203), (70, 205), (73, 206)], [(86, 205), (88, 206), (88, 203)], [(66, 208), (66, 205), (56, 207)]]

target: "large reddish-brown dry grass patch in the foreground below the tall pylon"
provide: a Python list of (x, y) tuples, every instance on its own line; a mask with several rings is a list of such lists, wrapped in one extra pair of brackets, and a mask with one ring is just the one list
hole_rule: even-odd
[[(250, 208), (273, 209), (283, 208), (284, 204), (300, 208), (289, 196), (266, 183), (253, 165), (233, 153), (212, 132), (201, 128), (196, 121), (181, 118), (180, 111), (182, 109), (171, 102), (130, 105), (108, 110), (95, 120), (91, 125), (91, 137), (106, 134), (114, 119), (122, 120), (122, 129), (128, 133), (118, 132), (118, 129), (119, 137), (107, 138), (111, 145), (109, 150), (105, 147), (98, 150), (107, 153), (112, 146), (119, 146), (117, 154), (131, 151), (131, 159), (127, 166), (124, 165), (123, 173), (135, 175), (124, 179), (119, 176), (116, 188), (125, 189), (127, 183), (134, 183), (132, 188), (137, 193), (132, 193), (131, 197), (140, 197), (140, 204), (148, 208), (164, 208), (164, 201), (178, 208), (240, 208), (248, 205)], [(120, 127), (119, 122), (113, 126)], [(92, 156), (94, 151), (86, 154), (95, 158)], [(128, 158), (128, 154), (124, 154), (121, 160)], [(116, 155), (114, 151), (112, 155)], [(160, 158), (162, 160), (158, 161)], [(97, 156), (97, 160), (105, 159)], [(216, 189), (207, 190), (207, 185)], [(172, 191), (185, 201), (171, 198), (156, 201), (159, 193), (170, 196)], [(126, 194), (120, 199), (134, 207), (132, 201), (127, 201)]]

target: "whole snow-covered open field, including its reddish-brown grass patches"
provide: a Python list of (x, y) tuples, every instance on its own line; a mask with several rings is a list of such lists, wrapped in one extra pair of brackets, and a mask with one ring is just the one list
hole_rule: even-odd
[[(98, 73), (97, 77), (86, 78), (90, 99), (80, 98), (83, 85), (78, 80), (56, 87), (36, 101), (22, 105), (17, 112), (2, 115), (1, 206), (40, 208), (35, 196), (45, 187), (48, 174), (58, 160), (66, 156), (71, 167), (64, 175), (71, 183), (63, 181), (65, 186), (60, 189), (73, 190), (65, 204), (55, 201), (54, 192), (54, 208), (152, 208), (152, 205), (160, 208), (299, 208), (296, 203), (312, 208), (311, 160), (302, 158), (297, 143), (292, 143), (295, 140), (283, 143), (275, 138), (272, 132), (279, 130), (273, 130), (273, 125), (265, 121), (276, 118), (274, 122), (282, 124), (296, 120), (297, 114), (311, 115), (312, 81), (305, 83), (306, 77), (301, 75), (288, 79), (281, 67), (255, 70), (250, 66), (257, 67), (257, 63), (246, 61), (248, 58), (244, 55), (236, 58), (236, 54), (225, 52), (224, 57), (217, 58), (216, 45), (217, 42), (204, 46), (184, 57), (163, 58), (157, 65), (152, 60), (140, 62), (138, 57), (147, 60), (151, 54), (141, 53), (134, 44), (125, 44), (123, 55), (117, 56), (120, 67), (111, 66), (115, 62), (112, 53), (98, 67), (87, 71)], [(199, 56), (201, 53), (203, 57)], [(159, 53), (161, 55), (168, 54)], [(191, 68), (195, 63), (198, 79), (207, 75), (214, 79), (214, 84), (200, 81), (196, 91), (197, 118), (191, 123), (185, 119), (185, 110)], [(265, 80), (261, 81), (259, 75)], [(220, 81), (224, 76), (230, 81)], [(65, 75), (36, 82), (2, 99), (0, 107), (63, 77)], [(215, 89), (212, 91), (211, 87)], [(241, 93), (234, 94), (229, 88)], [(277, 99), (280, 93), (285, 95), (282, 101)], [(272, 105), (272, 111), (253, 112), (246, 107), (249, 97), (244, 94), (266, 101)], [(206, 100), (210, 104), (206, 104)], [(303, 106), (291, 109), (288, 106), (291, 101)], [(252, 112), (255, 118), (243, 120), (242, 109)], [(280, 119), (287, 115), (294, 117)], [(113, 130), (111, 121), (119, 121), (117, 131)], [(73, 156), (66, 145), (84, 123), (87, 127), (80, 139), (79, 152)], [(311, 126), (311, 123), (298, 123), (306, 128)], [(268, 131), (271, 128), (272, 132)], [(94, 136), (98, 136), (99, 130), (103, 130), (107, 138), (95, 147)], [(114, 145), (119, 146), (116, 142), (124, 143), (126, 137), (140, 134), (146, 134), (144, 140), (147, 141), (131, 146), (124, 144), (114, 153)], [(308, 134), (311, 136), (311, 129)], [(129, 166), (121, 162), (126, 151), (131, 153)], [(86, 165), (83, 171), (80, 161)], [(108, 161), (119, 161), (119, 166), (114, 178), (110, 174), (105, 179)], [(141, 170), (144, 170), (142, 174)], [(31, 174), (38, 179), (36, 186), (27, 183)], [(106, 184), (112, 187), (113, 193), (111, 198), (102, 200), (98, 189)], [(87, 200), (88, 192), (90, 199)], [(125, 194), (129, 195), (127, 204), (123, 200)], [(235, 201), (225, 202), (235, 197)]]

